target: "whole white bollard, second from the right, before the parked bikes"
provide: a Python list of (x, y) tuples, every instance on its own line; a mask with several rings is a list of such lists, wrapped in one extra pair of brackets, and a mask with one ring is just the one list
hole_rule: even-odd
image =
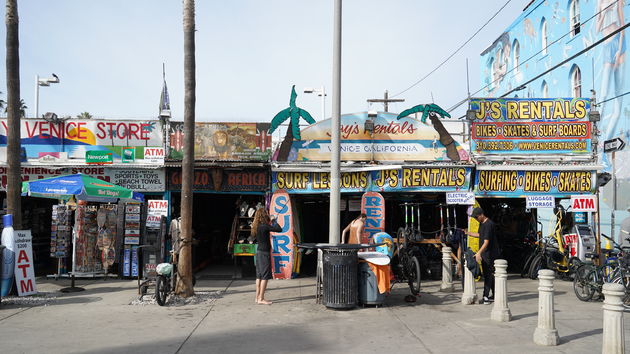
[(540, 345), (558, 345), (560, 343), (553, 306), (554, 278), (553, 270), (541, 269), (538, 271), (538, 327), (534, 331), (534, 343)]

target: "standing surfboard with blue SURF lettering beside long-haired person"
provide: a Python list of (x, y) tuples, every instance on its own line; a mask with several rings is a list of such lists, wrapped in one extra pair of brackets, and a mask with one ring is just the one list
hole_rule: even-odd
[(274, 279), (291, 279), (295, 263), (293, 208), (291, 198), (283, 190), (273, 192), (269, 214), (276, 215), (280, 232), (271, 233), (271, 272)]

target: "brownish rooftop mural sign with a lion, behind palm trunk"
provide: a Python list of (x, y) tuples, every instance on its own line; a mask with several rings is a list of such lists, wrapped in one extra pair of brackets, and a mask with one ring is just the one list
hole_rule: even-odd
[[(267, 161), (271, 155), (269, 123), (197, 123), (195, 159)], [(184, 123), (171, 122), (169, 157), (184, 156)]]

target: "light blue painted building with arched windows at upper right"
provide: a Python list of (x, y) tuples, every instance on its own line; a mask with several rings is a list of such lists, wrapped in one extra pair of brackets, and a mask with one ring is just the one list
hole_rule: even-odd
[[(596, 97), (601, 151), (614, 137), (630, 142), (628, 0), (535, 0), (481, 53), (484, 97)], [(583, 53), (581, 53), (583, 52)], [(580, 54), (581, 53), (581, 54)], [(550, 71), (549, 71), (550, 70)], [(593, 92), (594, 91), (594, 92)], [(610, 228), (613, 182), (602, 189), (602, 232), (617, 236), (630, 208), (630, 148), (616, 154), (617, 212)]]

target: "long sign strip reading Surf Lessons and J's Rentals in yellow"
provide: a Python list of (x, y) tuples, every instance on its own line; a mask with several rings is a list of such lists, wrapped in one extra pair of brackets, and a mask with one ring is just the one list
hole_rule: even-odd
[[(358, 171), (341, 174), (341, 192), (443, 192), (467, 191), (469, 167), (405, 167), (398, 170)], [(273, 172), (272, 189), (289, 193), (328, 193), (329, 172)]]

